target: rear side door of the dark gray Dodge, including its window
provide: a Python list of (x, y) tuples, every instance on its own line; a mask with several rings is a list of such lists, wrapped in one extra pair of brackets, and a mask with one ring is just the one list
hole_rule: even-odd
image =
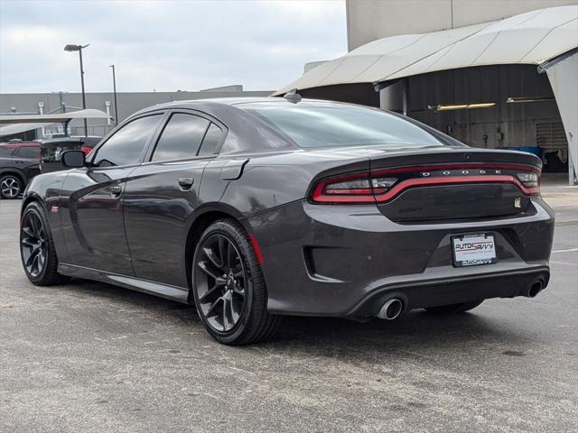
[(199, 206), (202, 172), (224, 125), (197, 112), (172, 111), (147, 161), (125, 191), (126, 238), (135, 275), (186, 289), (184, 243)]

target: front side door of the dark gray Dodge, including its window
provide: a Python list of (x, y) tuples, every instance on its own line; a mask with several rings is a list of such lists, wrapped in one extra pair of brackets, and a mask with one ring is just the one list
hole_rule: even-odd
[(61, 192), (68, 263), (134, 275), (123, 217), (126, 180), (143, 161), (164, 113), (141, 115), (98, 146), (88, 167), (70, 170)]

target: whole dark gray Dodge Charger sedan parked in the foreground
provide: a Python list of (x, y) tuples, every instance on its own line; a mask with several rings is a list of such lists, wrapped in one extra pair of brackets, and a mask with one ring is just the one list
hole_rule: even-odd
[(189, 303), (228, 345), (271, 336), (284, 315), (458, 313), (549, 279), (539, 159), (366, 106), (173, 102), (62, 163), (24, 194), (30, 281)]

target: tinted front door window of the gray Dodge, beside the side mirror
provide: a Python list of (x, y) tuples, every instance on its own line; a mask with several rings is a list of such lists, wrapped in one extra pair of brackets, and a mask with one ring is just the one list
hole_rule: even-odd
[(139, 161), (144, 146), (156, 131), (162, 115), (147, 115), (126, 124), (97, 151), (92, 165), (113, 167)]

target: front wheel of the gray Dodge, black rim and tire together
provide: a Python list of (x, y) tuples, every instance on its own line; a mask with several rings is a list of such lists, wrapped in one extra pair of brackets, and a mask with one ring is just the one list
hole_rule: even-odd
[(57, 272), (58, 258), (48, 218), (40, 203), (30, 203), (20, 227), (20, 256), (24, 273), (37, 286), (63, 284), (70, 280)]

